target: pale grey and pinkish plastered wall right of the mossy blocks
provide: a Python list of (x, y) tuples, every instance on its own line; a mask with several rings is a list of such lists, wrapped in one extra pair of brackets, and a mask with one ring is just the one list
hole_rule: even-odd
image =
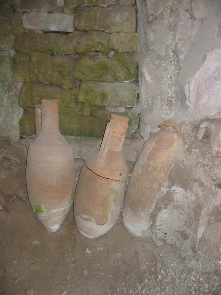
[(137, 1), (144, 138), (164, 119), (195, 121), (221, 110), (220, 4), (219, 0)]

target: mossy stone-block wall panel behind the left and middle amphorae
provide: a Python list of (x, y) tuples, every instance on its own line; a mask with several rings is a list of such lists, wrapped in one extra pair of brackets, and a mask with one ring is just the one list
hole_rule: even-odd
[[(59, 99), (63, 135), (102, 137), (110, 114), (138, 128), (134, 0), (10, 0), (15, 34), (14, 71), (23, 82), (22, 134), (35, 133), (34, 107)], [(12, 42), (13, 43), (13, 42)]]

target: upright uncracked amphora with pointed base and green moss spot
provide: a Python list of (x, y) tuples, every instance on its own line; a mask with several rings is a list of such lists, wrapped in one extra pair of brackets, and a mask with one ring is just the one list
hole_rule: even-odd
[(59, 131), (58, 100), (43, 99), (35, 116), (36, 139), (29, 146), (26, 167), (28, 196), (37, 218), (55, 232), (72, 205), (74, 158)]

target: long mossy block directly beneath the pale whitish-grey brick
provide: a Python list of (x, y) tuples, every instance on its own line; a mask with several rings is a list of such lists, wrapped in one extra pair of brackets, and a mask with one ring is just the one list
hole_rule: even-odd
[(19, 52), (51, 51), (54, 54), (71, 54), (100, 51), (109, 53), (109, 34), (98, 31), (56, 34), (36, 31), (24, 32), (16, 38)]

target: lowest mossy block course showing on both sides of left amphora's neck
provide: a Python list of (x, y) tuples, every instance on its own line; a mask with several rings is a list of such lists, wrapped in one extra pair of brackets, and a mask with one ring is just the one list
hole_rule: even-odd
[[(102, 137), (107, 122), (95, 117), (60, 116), (59, 129), (62, 135)], [(35, 133), (34, 114), (25, 114), (20, 120), (20, 132)]]

